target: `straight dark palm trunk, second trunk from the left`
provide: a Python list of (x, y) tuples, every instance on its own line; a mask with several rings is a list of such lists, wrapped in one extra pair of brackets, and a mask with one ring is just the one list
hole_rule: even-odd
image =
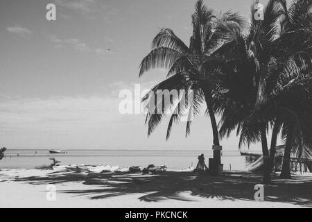
[(262, 154), (263, 154), (263, 184), (271, 183), (270, 176), (270, 157), (268, 153), (268, 141), (266, 139), (266, 128), (263, 126), (261, 128), (261, 145), (262, 145)]

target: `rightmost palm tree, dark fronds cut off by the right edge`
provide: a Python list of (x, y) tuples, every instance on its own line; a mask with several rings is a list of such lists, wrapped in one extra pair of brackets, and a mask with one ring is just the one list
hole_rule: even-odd
[[(299, 149), (302, 153), (302, 148), (309, 147), (306, 146), (309, 139), (302, 137), (305, 135), (302, 130), (306, 129), (302, 124), (309, 123), (309, 118), (301, 123), (300, 119), (309, 111), (311, 103), (312, 14), (309, 0), (294, 1), (289, 9), (286, 1), (278, 2), (283, 8), (278, 24), (279, 37), (272, 42), (273, 51), (258, 101), (271, 107), (269, 110), (274, 108), (277, 117), (286, 116), (282, 122), (286, 143), (281, 178), (291, 178), (291, 151)], [(306, 105), (302, 106), (303, 103)], [(281, 122), (277, 122), (277, 128), (279, 124)], [(273, 130), (273, 133), (276, 132)], [(274, 137), (272, 135), (272, 139)]]

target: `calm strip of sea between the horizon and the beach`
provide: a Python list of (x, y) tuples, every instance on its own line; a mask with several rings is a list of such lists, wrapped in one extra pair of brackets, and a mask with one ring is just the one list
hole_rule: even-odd
[[(0, 169), (26, 168), (33, 169), (51, 164), (50, 157), (55, 157), (61, 165), (67, 164), (109, 164), (119, 167), (141, 166), (148, 164), (160, 166), (166, 164), (168, 169), (196, 167), (198, 155), (212, 157), (212, 151), (142, 151), (142, 150), (104, 150), (104, 149), (71, 149), (66, 154), (50, 154), (43, 149), (8, 149), (6, 157), (0, 160)], [(223, 151), (223, 168), (225, 170), (245, 170), (245, 157), (239, 151)]]

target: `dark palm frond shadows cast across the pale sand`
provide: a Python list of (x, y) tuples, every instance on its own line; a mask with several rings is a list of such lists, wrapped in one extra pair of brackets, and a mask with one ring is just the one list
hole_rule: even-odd
[[(83, 182), (90, 189), (62, 190), (69, 194), (88, 195), (103, 199), (126, 194), (142, 194), (139, 200), (160, 201), (175, 199), (193, 201), (182, 195), (218, 198), (220, 200), (254, 201), (254, 185), (261, 183), (262, 176), (254, 173), (227, 172), (224, 176), (196, 176), (192, 172), (167, 171), (159, 175), (141, 173), (49, 173), (44, 177), (17, 178), (33, 185)], [(92, 186), (96, 185), (92, 189)], [(100, 187), (100, 188), (98, 188)], [(293, 176), (292, 180), (272, 178), (272, 185), (264, 189), (266, 201), (293, 203), (312, 207), (312, 179)]]

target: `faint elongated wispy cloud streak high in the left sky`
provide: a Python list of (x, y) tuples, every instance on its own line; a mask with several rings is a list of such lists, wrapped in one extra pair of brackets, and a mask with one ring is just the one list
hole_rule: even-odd
[(69, 46), (77, 51), (80, 52), (87, 52), (87, 53), (95, 53), (97, 56), (106, 56), (111, 55), (113, 52), (108, 48), (99, 48), (99, 47), (92, 47), (89, 44), (83, 42), (82, 40), (76, 38), (70, 39), (60, 39), (56, 35), (48, 35), (44, 34), (44, 36), (53, 43), (55, 48), (62, 48), (64, 46)]

